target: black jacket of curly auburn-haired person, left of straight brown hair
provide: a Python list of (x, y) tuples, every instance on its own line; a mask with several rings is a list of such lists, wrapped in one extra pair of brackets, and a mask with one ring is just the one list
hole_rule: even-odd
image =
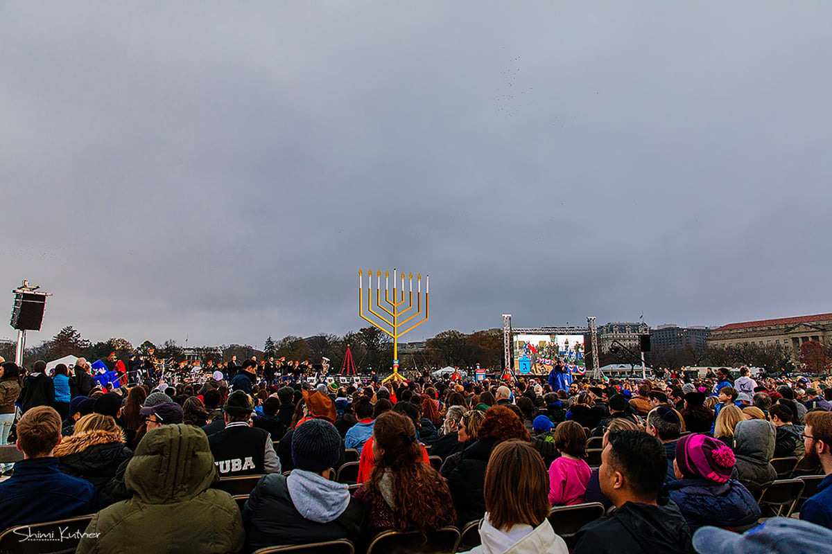
[(485, 468), (498, 439), (478, 440), (464, 449), (457, 467), (448, 475), (453, 507), (460, 525), (473, 522), (485, 514)]

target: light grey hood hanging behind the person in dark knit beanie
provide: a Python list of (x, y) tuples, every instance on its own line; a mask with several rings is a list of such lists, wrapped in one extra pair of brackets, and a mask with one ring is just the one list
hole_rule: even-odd
[(318, 473), (293, 469), (286, 488), (295, 509), (313, 522), (329, 523), (349, 506), (349, 485), (336, 483)]

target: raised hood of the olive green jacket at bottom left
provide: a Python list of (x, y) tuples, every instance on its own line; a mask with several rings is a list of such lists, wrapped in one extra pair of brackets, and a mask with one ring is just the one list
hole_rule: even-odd
[(208, 437), (188, 424), (162, 425), (149, 431), (127, 464), (124, 482), (142, 502), (176, 503), (204, 492), (216, 468)]

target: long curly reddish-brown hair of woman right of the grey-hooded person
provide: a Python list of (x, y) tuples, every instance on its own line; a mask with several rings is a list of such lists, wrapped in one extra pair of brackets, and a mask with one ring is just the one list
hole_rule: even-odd
[(375, 458), (365, 498), (369, 508), (385, 504), (379, 483), (386, 471), (393, 478), (393, 528), (395, 531), (426, 532), (456, 522), (448, 485), (430, 464), (422, 461), (422, 446), (416, 440), (413, 421), (390, 411), (373, 425)]

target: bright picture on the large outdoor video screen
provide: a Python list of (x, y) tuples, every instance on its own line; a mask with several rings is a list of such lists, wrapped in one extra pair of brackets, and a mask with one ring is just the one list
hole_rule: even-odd
[(557, 358), (572, 370), (586, 372), (583, 335), (515, 335), (514, 369), (520, 373), (548, 373)]

